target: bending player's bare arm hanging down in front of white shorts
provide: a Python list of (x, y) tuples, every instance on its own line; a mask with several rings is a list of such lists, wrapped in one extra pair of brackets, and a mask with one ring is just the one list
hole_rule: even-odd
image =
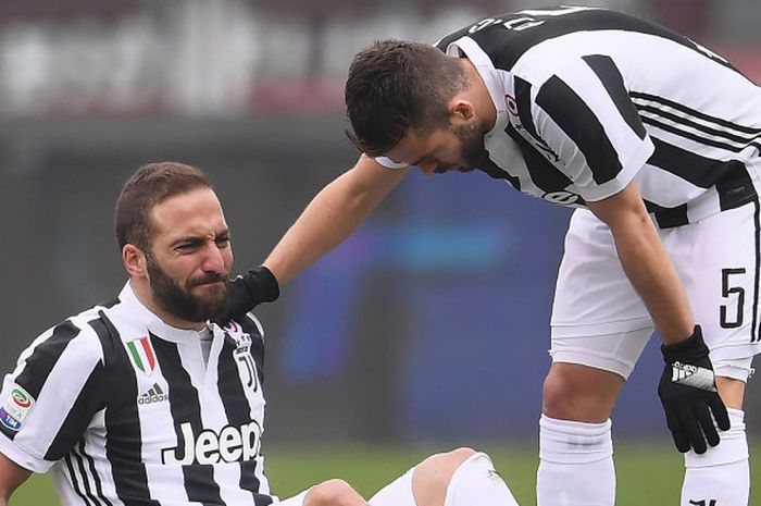
[(645, 301), (663, 343), (678, 343), (693, 335), (695, 321), (687, 295), (636, 184), (587, 205), (610, 226), (624, 272)]

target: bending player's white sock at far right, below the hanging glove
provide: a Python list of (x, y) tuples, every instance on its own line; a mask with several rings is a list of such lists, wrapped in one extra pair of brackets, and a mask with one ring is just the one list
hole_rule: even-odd
[(747, 506), (750, 492), (748, 440), (740, 409), (727, 409), (729, 430), (719, 433), (719, 446), (685, 454), (682, 506)]

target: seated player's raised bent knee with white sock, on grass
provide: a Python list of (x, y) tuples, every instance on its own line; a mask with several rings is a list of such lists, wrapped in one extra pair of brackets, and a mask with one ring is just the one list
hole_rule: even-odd
[(471, 448), (433, 455), (382, 489), (371, 506), (517, 506), (489, 457)]

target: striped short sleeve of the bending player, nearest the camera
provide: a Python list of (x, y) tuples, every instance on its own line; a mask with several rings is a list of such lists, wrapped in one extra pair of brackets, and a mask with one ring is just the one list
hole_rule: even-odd
[(525, 132), (587, 201), (621, 192), (653, 152), (608, 55), (574, 59), (538, 85), (515, 76), (514, 87)]

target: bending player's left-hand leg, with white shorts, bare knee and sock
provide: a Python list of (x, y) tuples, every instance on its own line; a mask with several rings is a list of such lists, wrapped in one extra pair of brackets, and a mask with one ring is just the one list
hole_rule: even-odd
[(653, 326), (621, 267), (610, 227), (586, 210), (571, 218), (550, 324), (538, 505), (612, 506), (609, 418)]

